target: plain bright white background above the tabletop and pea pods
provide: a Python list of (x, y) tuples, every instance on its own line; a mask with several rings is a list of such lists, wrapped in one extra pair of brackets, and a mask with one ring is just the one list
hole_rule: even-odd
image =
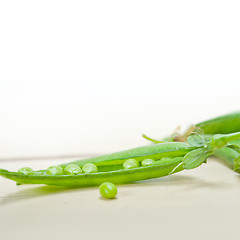
[(103, 153), (239, 110), (239, 1), (1, 1), (0, 158)]

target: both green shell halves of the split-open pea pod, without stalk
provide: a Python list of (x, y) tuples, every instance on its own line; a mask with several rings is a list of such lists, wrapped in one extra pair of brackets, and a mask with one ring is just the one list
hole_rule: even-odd
[[(129, 183), (162, 177), (183, 170), (181, 166), (178, 167), (182, 162), (182, 157), (193, 149), (195, 148), (187, 143), (161, 143), (62, 164), (51, 168), (52, 171), (30, 171), (26, 174), (26, 171), (10, 172), (0, 169), (0, 176), (23, 184), (69, 187), (100, 185), (103, 182)], [(146, 167), (124, 169), (125, 161), (132, 158), (138, 165), (149, 158), (154, 161), (154, 164)], [(74, 176), (65, 175), (64, 169), (72, 164), (82, 167), (83, 170), (86, 165), (92, 164), (98, 169), (98, 172), (81, 172)]]

